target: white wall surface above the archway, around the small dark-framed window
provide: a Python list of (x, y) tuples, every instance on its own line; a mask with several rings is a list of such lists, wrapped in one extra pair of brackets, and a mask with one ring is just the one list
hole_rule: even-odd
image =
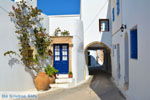
[(99, 19), (110, 19), (109, 5), (109, 0), (81, 0), (84, 47), (89, 43), (99, 41), (111, 48), (111, 28), (110, 32), (99, 32)]

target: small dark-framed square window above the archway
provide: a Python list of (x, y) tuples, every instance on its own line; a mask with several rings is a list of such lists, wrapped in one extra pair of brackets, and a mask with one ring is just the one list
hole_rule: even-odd
[(100, 32), (109, 31), (109, 19), (100, 19), (99, 20), (99, 31)]

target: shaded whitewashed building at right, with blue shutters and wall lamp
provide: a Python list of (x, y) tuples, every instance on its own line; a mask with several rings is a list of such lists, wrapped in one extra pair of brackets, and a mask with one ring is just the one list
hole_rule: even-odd
[(149, 100), (150, 1), (111, 0), (112, 77), (127, 100)]

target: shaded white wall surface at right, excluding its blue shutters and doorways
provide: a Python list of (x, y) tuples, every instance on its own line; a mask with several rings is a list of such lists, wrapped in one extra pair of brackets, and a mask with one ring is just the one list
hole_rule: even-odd
[[(149, 0), (123, 0), (122, 1), (122, 18), (113, 24), (113, 28), (117, 28), (117, 23), (123, 23), (127, 25), (127, 29), (124, 32), (113, 32), (113, 45), (120, 44), (120, 62), (121, 62), (121, 79), (117, 80), (120, 89), (124, 92), (127, 100), (149, 100), (150, 99), (150, 42), (149, 26), (150, 26), (150, 12), (149, 12)], [(138, 29), (138, 59), (134, 60), (130, 57), (130, 29), (137, 25)], [(119, 27), (118, 27), (119, 28)], [(129, 89), (123, 90), (124, 84), (124, 37), (125, 33), (128, 33), (129, 37)], [(116, 55), (112, 57), (116, 59)], [(116, 71), (116, 61), (113, 61), (113, 77)]]

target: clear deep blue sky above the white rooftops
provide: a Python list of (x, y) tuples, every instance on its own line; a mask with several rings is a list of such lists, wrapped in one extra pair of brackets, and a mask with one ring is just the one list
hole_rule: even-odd
[(38, 8), (46, 15), (80, 13), (80, 0), (37, 0)]

